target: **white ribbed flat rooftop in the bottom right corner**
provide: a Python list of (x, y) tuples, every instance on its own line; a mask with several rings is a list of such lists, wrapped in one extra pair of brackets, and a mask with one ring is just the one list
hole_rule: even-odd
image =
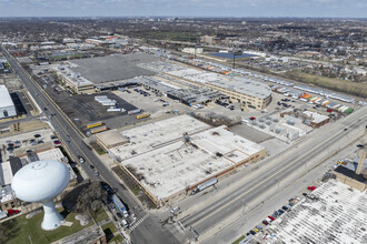
[(329, 180), (257, 236), (264, 243), (366, 243), (367, 190)]

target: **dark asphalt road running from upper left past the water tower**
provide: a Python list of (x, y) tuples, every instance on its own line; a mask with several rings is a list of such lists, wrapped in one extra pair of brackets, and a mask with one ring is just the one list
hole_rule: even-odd
[[(137, 215), (137, 221), (145, 217), (143, 222), (131, 232), (131, 243), (178, 243), (171, 232), (149, 216), (148, 212), (139, 205), (130, 192), (125, 190), (120, 182), (115, 179), (115, 175), (112, 175), (110, 170), (107, 169), (100, 159), (83, 143), (78, 129), (76, 129), (71, 121), (66, 118), (62, 111), (46, 94), (42, 88), (30, 78), (29, 73), (20, 67), (19, 62), (11, 57), (2, 45), (0, 45), (0, 48), (13, 71), (29, 90), (39, 106), (43, 110), (43, 114), (50, 118), (52, 126), (61, 140), (63, 148), (70, 152), (70, 156), (78, 162), (78, 155), (82, 155), (86, 159), (86, 163), (80, 164), (80, 166), (89, 179), (98, 181), (103, 180), (109, 183), (111, 187), (117, 191), (117, 194), (121, 200), (128, 204), (130, 212), (133, 212)], [(47, 108), (47, 110), (44, 110), (44, 108)], [(50, 116), (50, 114), (56, 115)], [(95, 169), (91, 169), (90, 165), (93, 165)], [(99, 172), (99, 176), (96, 176), (96, 171)], [(133, 211), (132, 206), (135, 206)]]

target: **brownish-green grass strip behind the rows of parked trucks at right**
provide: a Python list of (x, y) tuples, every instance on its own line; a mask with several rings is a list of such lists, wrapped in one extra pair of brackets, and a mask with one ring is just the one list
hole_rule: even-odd
[(284, 74), (285, 78), (301, 81), (305, 83), (317, 84), (334, 91), (340, 91), (361, 98), (367, 98), (367, 84), (345, 81), (339, 79), (326, 78), (316, 74), (304, 73), (299, 71), (289, 71)]

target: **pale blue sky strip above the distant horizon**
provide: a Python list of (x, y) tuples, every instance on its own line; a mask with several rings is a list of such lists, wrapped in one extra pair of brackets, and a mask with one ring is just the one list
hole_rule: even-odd
[(367, 0), (0, 0), (0, 17), (349, 17)]

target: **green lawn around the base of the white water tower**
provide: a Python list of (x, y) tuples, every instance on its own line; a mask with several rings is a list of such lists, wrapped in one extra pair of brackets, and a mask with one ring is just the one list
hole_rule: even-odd
[[(59, 212), (65, 215), (67, 213), (62, 212), (62, 209), (59, 209)], [(107, 214), (101, 207), (97, 211), (96, 220), (107, 218)], [(60, 226), (54, 231), (43, 231), (41, 228), (41, 222), (43, 220), (43, 211), (33, 217), (27, 220), (26, 215), (21, 215), (13, 220), (7, 221), (0, 224), (0, 228), (6, 225), (10, 226), (4, 237), (0, 238), (1, 244), (20, 244), (20, 243), (30, 243), (30, 240), (33, 244), (46, 244), (58, 241), (65, 236), (79, 232), (88, 226), (93, 224), (92, 221), (88, 225), (81, 226), (79, 221), (76, 220), (75, 213), (68, 213), (66, 221), (72, 222), (71, 227)]]

